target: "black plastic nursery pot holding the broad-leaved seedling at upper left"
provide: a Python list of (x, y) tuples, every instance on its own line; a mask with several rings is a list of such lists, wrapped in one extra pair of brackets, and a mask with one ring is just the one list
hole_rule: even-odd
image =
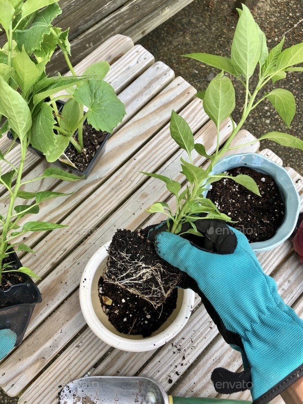
[[(58, 110), (60, 112), (62, 110), (65, 102), (64, 101), (56, 101), (56, 104), (58, 105)], [(84, 122), (86, 122), (86, 120)], [(78, 132), (75, 133), (76, 136), (77, 136), (77, 133)], [(91, 170), (93, 169), (93, 167), (96, 165), (96, 163), (98, 162), (100, 157), (104, 154), (105, 147), (106, 147), (106, 142), (107, 142), (109, 136), (110, 136), (110, 133), (107, 133), (106, 137), (103, 140), (103, 142), (101, 143), (99, 149), (96, 151), (96, 154), (93, 156), (91, 162), (88, 164), (88, 166), (86, 167), (86, 169), (84, 171), (80, 171), (77, 168), (74, 168), (74, 167), (70, 166), (67, 163), (64, 163), (63, 161), (61, 161), (59, 159), (56, 160), (54, 163), (51, 163), (51, 164), (54, 164), (55, 166), (58, 166), (60, 168), (68, 168), (72, 172), (72, 174), (74, 174), (76, 176), (79, 176), (79, 177), (84, 176), (84, 179), (86, 180), (87, 177), (89, 176)], [(13, 140), (13, 135), (12, 135), (11, 132), (7, 133), (7, 137), (10, 140)], [(19, 139), (16, 139), (16, 142), (20, 143)], [(28, 149), (29, 149), (30, 152), (32, 152), (36, 156), (45, 157), (44, 154), (40, 150), (35, 149), (31, 145), (28, 146)]]

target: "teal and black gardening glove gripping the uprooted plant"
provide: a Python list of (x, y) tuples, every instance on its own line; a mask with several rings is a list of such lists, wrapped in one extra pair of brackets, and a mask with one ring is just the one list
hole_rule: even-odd
[(303, 376), (303, 321), (283, 302), (242, 233), (219, 220), (195, 224), (205, 235), (198, 245), (197, 237), (163, 231), (166, 224), (149, 230), (148, 238), (160, 257), (187, 274), (182, 286), (199, 293), (225, 341), (242, 354), (241, 374), (214, 370), (216, 391), (251, 389), (253, 404), (268, 403)]

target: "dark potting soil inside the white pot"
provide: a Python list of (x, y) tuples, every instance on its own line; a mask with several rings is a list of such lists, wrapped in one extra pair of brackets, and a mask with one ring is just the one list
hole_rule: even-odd
[(175, 288), (165, 302), (157, 307), (138, 295), (113, 283), (99, 280), (99, 298), (104, 313), (116, 330), (126, 335), (149, 337), (176, 309), (178, 291)]

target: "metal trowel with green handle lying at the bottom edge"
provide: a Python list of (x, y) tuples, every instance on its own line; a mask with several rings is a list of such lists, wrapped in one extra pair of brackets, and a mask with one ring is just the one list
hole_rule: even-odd
[(149, 377), (83, 377), (65, 386), (60, 404), (243, 404), (251, 401), (168, 396)]

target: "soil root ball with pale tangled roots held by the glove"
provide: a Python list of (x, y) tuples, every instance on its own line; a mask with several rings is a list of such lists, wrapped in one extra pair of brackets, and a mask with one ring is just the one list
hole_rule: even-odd
[(119, 229), (109, 246), (103, 276), (157, 307), (176, 287), (182, 273), (160, 258), (142, 233)]

